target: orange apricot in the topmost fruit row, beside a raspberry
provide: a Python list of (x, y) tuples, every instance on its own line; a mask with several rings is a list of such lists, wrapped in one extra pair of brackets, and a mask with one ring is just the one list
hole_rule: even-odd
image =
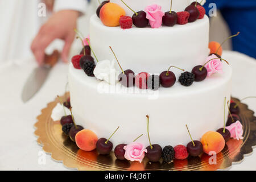
[(106, 3), (100, 11), (101, 22), (108, 27), (119, 26), (119, 19), (125, 16), (125, 10), (116, 3)]

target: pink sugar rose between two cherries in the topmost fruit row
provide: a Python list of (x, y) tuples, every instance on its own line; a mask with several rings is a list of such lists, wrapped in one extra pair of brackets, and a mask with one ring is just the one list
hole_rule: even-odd
[(149, 20), (150, 26), (152, 28), (159, 28), (162, 26), (164, 13), (161, 9), (162, 7), (159, 5), (150, 5), (145, 9), (147, 13), (146, 18)]

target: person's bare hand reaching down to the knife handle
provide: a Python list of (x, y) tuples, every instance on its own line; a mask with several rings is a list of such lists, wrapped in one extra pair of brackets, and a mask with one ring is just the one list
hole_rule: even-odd
[(47, 46), (55, 40), (64, 40), (65, 44), (61, 52), (61, 59), (67, 63), (68, 53), (76, 33), (74, 29), (77, 25), (78, 11), (62, 10), (53, 14), (48, 21), (40, 28), (38, 35), (31, 43), (31, 51), (34, 53), (39, 65), (43, 64), (44, 52)]

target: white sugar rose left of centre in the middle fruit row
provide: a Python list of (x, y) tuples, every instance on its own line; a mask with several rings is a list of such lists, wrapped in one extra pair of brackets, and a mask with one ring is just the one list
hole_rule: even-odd
[(105, 80), (109, 84), (114, 85), (118, 81), (119, 72), (115, 68), (114, 60), (102, 60), (96, 64), (93, 74), (99, 80)]

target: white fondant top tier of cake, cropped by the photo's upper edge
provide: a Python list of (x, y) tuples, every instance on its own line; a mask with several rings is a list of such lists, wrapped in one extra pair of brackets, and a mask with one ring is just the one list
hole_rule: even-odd
[[(162, 11), (170, 11), (171, 1), (170, 0), (123, 0), (128, 6), (131, 7), (134, 11), (141, 11), (145, 9), (148, 5), (157, 4), (162, 6)], [(123, 9), (125, 9), (126, 14), (132, 16), (134, 13), (128, 9), (121, 0), (110, 0), (110, 2), (117, 3)], [(172, 10), (173, 11), (184, 11), (184, 9), (191, 3), (191, 0), (174, 0), (172, 1)]]

